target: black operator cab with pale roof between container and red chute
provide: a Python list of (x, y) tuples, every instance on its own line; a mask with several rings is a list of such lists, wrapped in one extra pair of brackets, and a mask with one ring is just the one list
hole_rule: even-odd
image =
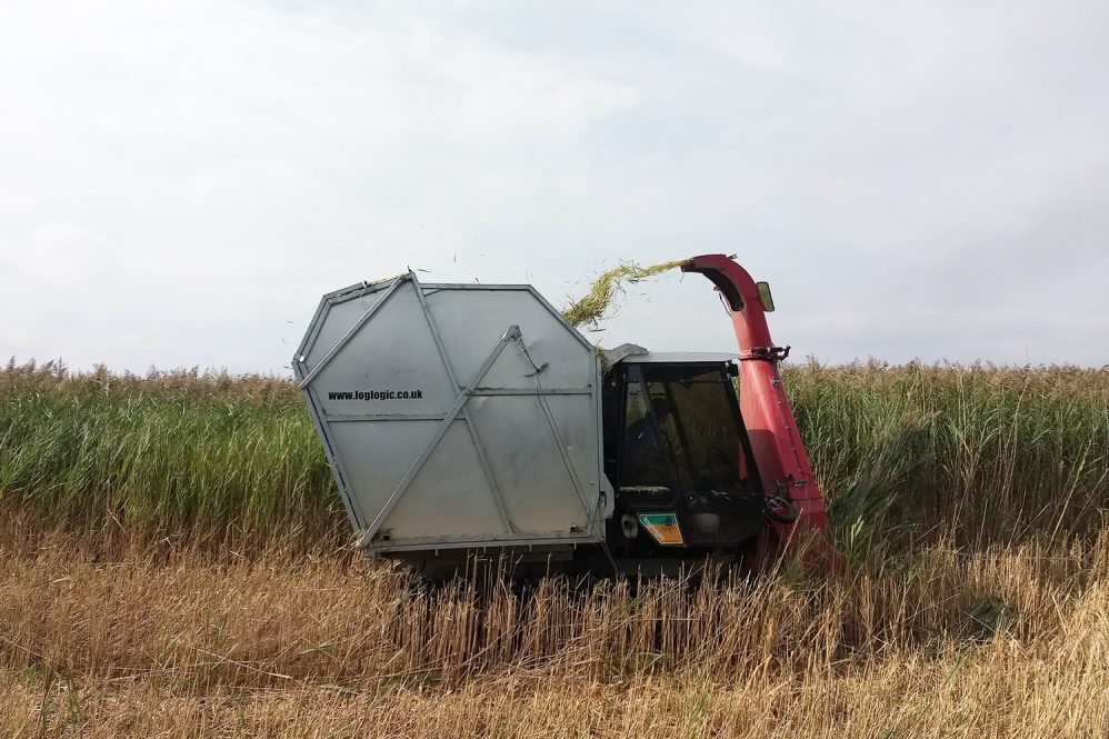
[(613, 556), (742, 553), (768, 517), (790, 513), (767, 507), (739, 411), (735, 354), (620, 352), (610, 361), (602, 401)]

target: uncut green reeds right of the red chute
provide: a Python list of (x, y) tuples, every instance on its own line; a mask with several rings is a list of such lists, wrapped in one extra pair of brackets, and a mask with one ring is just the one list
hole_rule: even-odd
[(810, 362), (783, 375), (841, 541), (1088, 535), (1109, 506), (1109, 368)]

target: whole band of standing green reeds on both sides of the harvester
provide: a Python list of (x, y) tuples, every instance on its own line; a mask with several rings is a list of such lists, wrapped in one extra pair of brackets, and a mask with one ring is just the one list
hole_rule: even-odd
[[(1109, 368), (810, 362), (783, 375), (849, 551), (929, 533), (1085, 535), (1109, 506)], [(196, 369), (9, 362), (0, 499), (159, 531), (342, 522), (292, 382)]]

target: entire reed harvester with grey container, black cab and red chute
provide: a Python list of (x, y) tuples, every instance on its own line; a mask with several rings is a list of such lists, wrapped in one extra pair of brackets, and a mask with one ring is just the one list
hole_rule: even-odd
[(833, 556), (769, 286), (723, 254), (681, 269), (722, 296), (738, 354), (599, 352), (527, 284), (324, 296), (292, 367), (367, 555), (436, 579), (506, 555), (647, 576)]

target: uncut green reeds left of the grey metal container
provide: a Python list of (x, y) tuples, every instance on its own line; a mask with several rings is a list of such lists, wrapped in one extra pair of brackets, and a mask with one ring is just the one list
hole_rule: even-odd
[(0, 496), (61, 519), (318, 528), (339, 508), (332, 488), (287, 380), (0, 373)]

